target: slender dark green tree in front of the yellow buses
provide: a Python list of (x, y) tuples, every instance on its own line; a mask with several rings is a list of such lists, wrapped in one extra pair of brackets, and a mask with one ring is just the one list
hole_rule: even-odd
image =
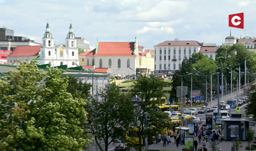
[[(133, 126), (138, 130), (139, 146), (132, 144), (136, 150), (141, 150), (141, 139), (144, 136), (150, 138), (155, 136), (157, 131), (168, 127), (170, 119), (166, 114), (157, 111), (156, 104), (160, 103), (163, 96), (163, 79), (151, 76), (140, 76), (134, 83), (132, 96), (137, 95), (142, 101), (136, 109), (134, 109)], [(152, 98), (157, 98), (157, 101)]]

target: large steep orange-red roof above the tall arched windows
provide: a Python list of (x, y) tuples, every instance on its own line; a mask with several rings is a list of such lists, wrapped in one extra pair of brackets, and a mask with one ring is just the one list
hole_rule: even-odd
[(131, 56), (133, 50), (134, 42), (99, 42), (95, 56)]

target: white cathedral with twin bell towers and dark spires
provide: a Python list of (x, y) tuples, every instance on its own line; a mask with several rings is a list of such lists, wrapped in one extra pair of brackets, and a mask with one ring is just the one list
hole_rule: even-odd
[(40, 48), (39, 64), (51, 64), (52, 67), (67, 65), (68, 68), (76, 67), (75, 63), (79, 64), (76, 38), (71, 24), (67, 38), (65, 39), (66, 47), (64, 47), (62, 44), (54, 45), (48, 22), (46, 24), (46, 31), (42, 39), (43, 44)]

